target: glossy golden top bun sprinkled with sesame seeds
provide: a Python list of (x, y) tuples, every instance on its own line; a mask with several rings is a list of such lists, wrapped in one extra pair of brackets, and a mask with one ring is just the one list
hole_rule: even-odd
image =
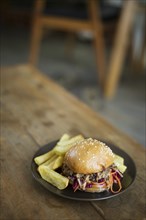
[(112, 150), (105, 143), (92, 138), (76, 142), (64, 157), (64, 163), (74, 173), (82, 174), (100, 172), (113, 161)]

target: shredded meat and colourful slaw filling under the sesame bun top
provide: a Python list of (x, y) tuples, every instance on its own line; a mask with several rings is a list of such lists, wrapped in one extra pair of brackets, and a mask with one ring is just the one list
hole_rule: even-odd
[[(121, 178), (123, 175), (114, 164), (101, 172), (92, 174), (74, 173), (66, 164), (63, 164), (62, 172), (68, 177), (74, 192), (79, 189), (90, 192), (110, 190), (113, 193), (118, 193), (122, 189)], [(116, 190), (114, 185), (116, 185)]]

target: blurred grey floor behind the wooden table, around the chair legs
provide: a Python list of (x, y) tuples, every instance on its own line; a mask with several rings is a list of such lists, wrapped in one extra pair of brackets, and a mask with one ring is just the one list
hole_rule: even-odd
[[(30, 34), (23, 28), (3, 28), (2, 66), (28, 62)], [(135, 75), (123, 68), (117, 94), (104, 101), (99, 92), (91, 42), (77, 39), (71, 58), (65, 53), (66, 35), (45, 34), (38, 68), (75, 94), (92, 109), (137, 142), (145, 143), (145, 74)]]

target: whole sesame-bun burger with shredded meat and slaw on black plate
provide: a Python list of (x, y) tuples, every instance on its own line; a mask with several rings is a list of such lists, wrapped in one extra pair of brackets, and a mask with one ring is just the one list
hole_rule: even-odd
[[(65, 154), (62, 166), (74, 191), (103, 192), (121, 190), (122, 174), (114, 164), (112, 150), (103, 142), (88, 138), (76, 142)], [(116, 191), (113, 185), (117, 185)]]

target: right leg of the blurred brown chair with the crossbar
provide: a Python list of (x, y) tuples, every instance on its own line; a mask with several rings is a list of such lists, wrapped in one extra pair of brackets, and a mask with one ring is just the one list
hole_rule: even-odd
[(93, 47), (95, 48), (99, 86), (101, 91), (103, 91), (105, 77), (105, 44), (103, 36), (103, 26), (99, 16), (97, 1), (88, 0), (88, 9), (93, 28)]

